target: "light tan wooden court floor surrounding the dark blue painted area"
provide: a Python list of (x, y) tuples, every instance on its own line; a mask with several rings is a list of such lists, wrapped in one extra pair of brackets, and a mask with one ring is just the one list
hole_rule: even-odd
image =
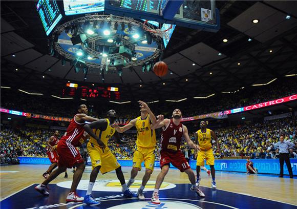
[[(48, 165), (7, 165), (1, 166), (1, 200), (33, 183), (41, 183), (44, 178), (41, 176), (48, 168)], [(131, 167), (123, 167), (125, 179), (130, 177)], [(13, 172), (16, 171), (16, 172)], [(90, 178), (90, 167), (87, 166), (82, 179)], [(156, 168), (150, 180), (155, 181), (159, 168)], [(141, 180), (144, 170), (138, 173), (136, 179)], [(73, 173), (68, 170), (68, 180), (72, 179)], [(65, 181), (61, 174), (51, 183)], [(99, 179), (117, 179), (114, 172), (98, 175)], [(165, 177), (166, 182), (170, 183), (189, 183), (185, 173), (180, 173), (176, 169), (171, 169)], [(297, 179), (278, 178), (275, 176), (264, 175), (245, 175), (235, 173), (216, 173), (217, 190), (224, 190), (254, 197), (280, 201), (297, 205)], [(202, 171), (201, 185), (210, 187), (211, 177)]]

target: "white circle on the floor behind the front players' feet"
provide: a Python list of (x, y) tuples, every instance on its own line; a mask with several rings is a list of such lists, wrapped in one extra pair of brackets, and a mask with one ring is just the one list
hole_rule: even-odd
[[(57, 186), (70, 189), (72, 181), (63, 181), (57, 183)], [(78, 184), (78, 190), (88, 190), (89, 180), (81, 180)], [(130, 186), (132, 192), (137, 192), (141, 185), (141, 180), (135, 180), (135, 182)], [(163, 182), (160, 190), (169, 190), (176, 187), (173, 183)], [(155, 181), (148, 181), (144, 191), (154, 191)], [(119, 180), (102, 179), (96, 180), (94, 183), (93, 191), (98, 192), (121, 192), (122, 186)]]

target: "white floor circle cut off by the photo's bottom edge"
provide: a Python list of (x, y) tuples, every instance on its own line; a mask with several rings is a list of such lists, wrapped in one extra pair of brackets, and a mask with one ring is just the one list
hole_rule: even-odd
[(201, 208), (195, 204), (182, 202), (182, 201), (162, 201), (161, 204), (156, 205), (151, 202), (146, 201), (139, 201), (139, 202), (132, 202), (132, 203), (126, 203), (126, 204), (120, 204), (112, 207), (108, 207), (108, 209), (131, 209), (131, 208), (166, 208), (166, 209), (172, 209), (172, 208), (187, 208), (187, 209), (197, 209)]

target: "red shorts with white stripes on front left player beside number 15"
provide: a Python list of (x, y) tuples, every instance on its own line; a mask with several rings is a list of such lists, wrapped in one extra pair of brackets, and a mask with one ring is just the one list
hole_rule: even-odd
[(57, 151), (59, 154), (59, 167), (71, 169), (74, 165), (84, 162), (78, 150), (65, 140), (58, 142)]

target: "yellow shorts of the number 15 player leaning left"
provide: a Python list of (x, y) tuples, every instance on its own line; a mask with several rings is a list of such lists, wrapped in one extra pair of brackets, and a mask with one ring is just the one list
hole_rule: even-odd
[(121, 166), (108, 147), (103, 152), (98, 145), (88, 142), (87, 150), (92, 161), (92, 170), (100, 165), (101, 174), (105, 174)]

